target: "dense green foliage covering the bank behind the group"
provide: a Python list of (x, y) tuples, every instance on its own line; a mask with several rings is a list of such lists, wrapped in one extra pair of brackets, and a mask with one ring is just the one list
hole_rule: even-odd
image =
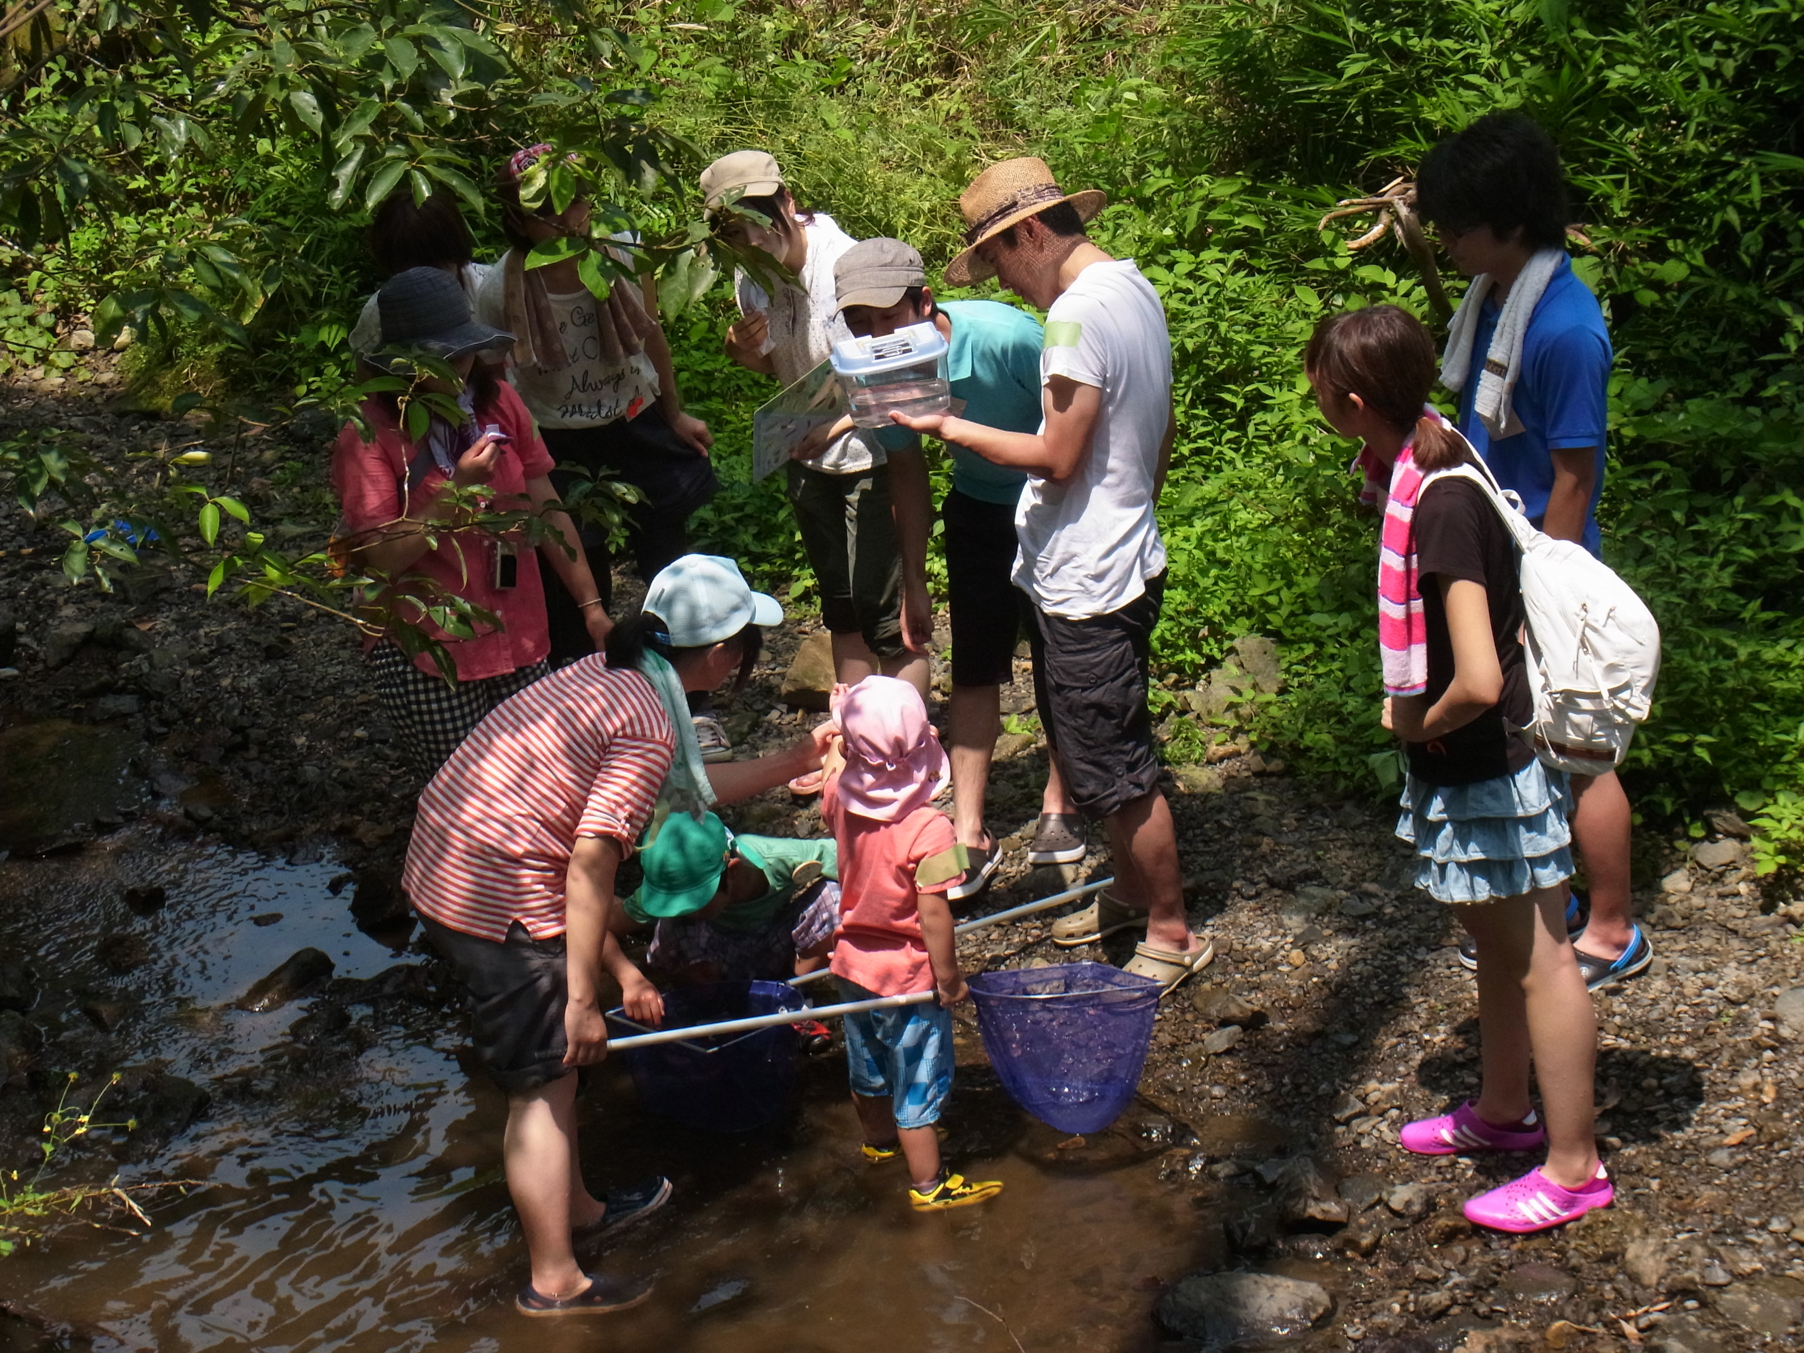
[[(1800, 7), (287, 0), (256, 25), (106, 4), (83, 27), (61, 4), (0, 76), (0, 341), (16, 364), (58, 364), (43, 336), (90, 310), (150, 339), (146, 372), (211, 370), (218, 400), (339, 408), (345, 332), (373, 281), (363, 213), (444, 186), (491, 256), (474, 184), (552, 141), (527, 195), (595, 197), (597, 226), (637, 224), (637, 267), (662, 272), (684, 395), (725, 483), (698, 541), (801, 599), (812, 577), (781, 482), (749, 483), (750, 411), (774, 388), (722, 352), (732, 303), (711, 287), (736, 260), (693, 220), (695, 171), (765, 146), (803, 206), (909, 238), (934, 265), (960, 244), (971, 175), (1037, 153), (1109, 193), (1097, 240), (1165, 298), (1180, 437), (1160, 675), (1191, 682), (1239, 635), (1277, 639), (1286, 689), (1254, 731), (1304, 770), (1376, 788), (1396, 756), (1378, 723), (1375, 527), (1299, 354), (1335, 308), (1429, 310), (1400, 247), (1353, 254), (1317, 220), (1447, 130), (1521, 106), (1562, 146), (1575, 269), (1616, 345), (1606, 552), (1667, 637), (1631, 792), (1665, 815), (1735, 801), (1761, 859), (1782, 864), (1804, 857), (1790, 808), (1804, 790)], [(619, 267), (588, 256), (590, 285), (612, 285)], [(31, 456), (13, 449), (14, 480), (49, 474)], [(249, 561), (235, 496), (215, 476), (189, 511), (213, 503), (215, 539)], [(943, 577), (938, 550), (931, 568)]]

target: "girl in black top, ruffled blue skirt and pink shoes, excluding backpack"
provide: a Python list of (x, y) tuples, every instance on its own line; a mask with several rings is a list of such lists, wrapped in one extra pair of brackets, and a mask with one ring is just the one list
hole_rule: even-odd
[(1364, 502), (1384, 505), (1384, 725), (1409, 756), (1396, 833), (1420, 855), (1416, 886), (1477, 940), (1483, 1088), (1400, 1140), (1418, 1155), (1544, 1144), (1546, 1164), (1465, 1214), (1497, 1230), (1557, 1227), (1615, 1192), (1593, 1140), (1597, 1023), (1566, 936), (1571, 792), (1515, 736), (1532, 720), (1517, 545), (1479, 485), (1434, 476), (1479, 462), (1427, 406), (1436, 352), (1420, 321), (1393, 305), (1330, 316), (1304, 368), (1328, 424), (1364, 444)]

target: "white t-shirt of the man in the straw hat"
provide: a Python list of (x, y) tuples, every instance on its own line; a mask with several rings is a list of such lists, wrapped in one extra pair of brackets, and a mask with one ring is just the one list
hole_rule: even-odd
[(1030, 474), (1021, 489), (1014, 581), (1048, 615), (1082, 621), (1120, 610), (1165, 568), (1153, 485), (1171, 419), (1171, 337), (1131, 260), (1091, 263), (1052, 303), (1041, 384), (1054, 375), (1099, 388), (1102, 408), (1082, 469), (1064, 483)]

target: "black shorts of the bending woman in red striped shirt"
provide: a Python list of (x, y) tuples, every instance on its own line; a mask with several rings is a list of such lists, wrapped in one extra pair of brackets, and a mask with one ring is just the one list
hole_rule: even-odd
[(482, 1068), (509, 1095), (557, 1081), (565, 1066), (565, 938), (534, 940), (518, 920), (496, 943), (420, 916), (433, 947), (456, 969), (469, 1003), (471, 1041)]

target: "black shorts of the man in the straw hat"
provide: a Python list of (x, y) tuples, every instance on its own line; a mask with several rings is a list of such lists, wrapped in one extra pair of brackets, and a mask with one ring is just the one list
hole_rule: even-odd
[(1165, 575), (1118, 612), (1066, 621), (1034, 612), (1034, 698), (1046, 745), (1077, 810), (1091, 821), (1158, 788), (1153, 713), (1146, 704), (1153, 628)]

